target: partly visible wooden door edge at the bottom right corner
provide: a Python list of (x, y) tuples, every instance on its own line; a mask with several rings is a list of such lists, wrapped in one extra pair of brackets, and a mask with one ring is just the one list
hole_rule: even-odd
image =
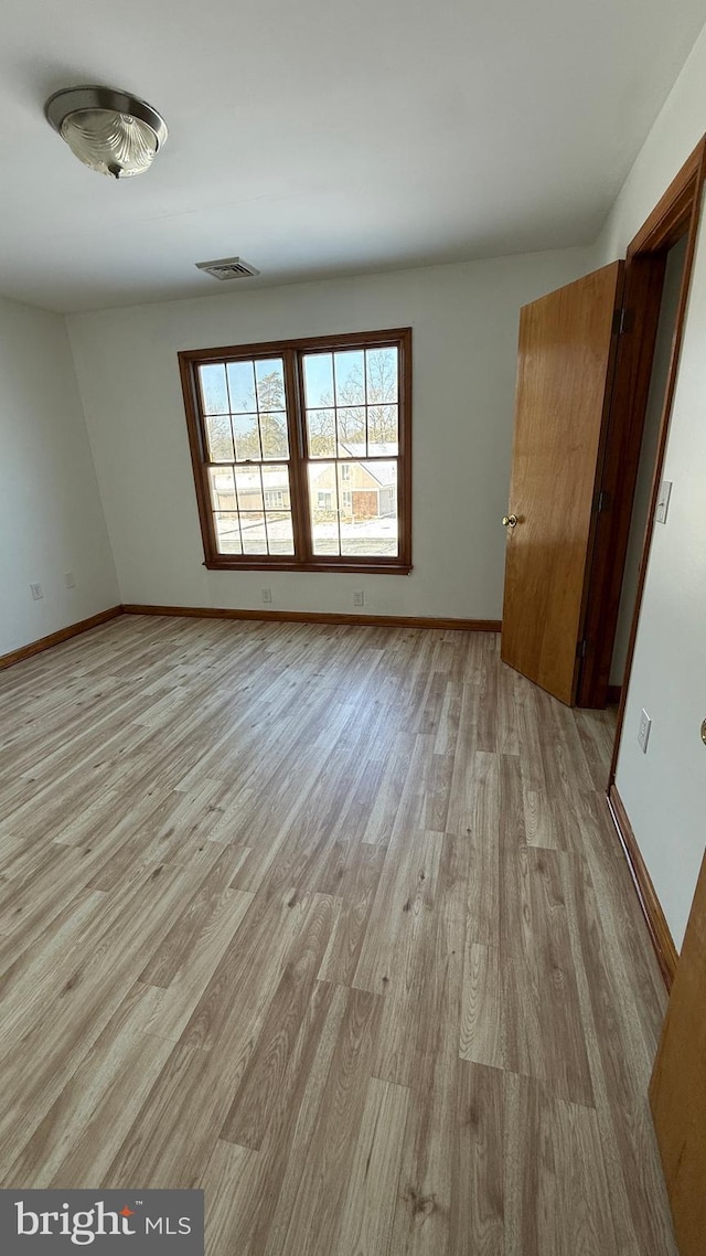
[(657, 1053), (649, 1102), (681, 1256), (706, 1250), (706, 858)]

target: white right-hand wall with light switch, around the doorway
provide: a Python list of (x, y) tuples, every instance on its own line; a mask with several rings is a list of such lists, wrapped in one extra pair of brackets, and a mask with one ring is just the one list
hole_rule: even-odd
[[(700, 36), (618, 197), (600, 241), (602, 260), (624, 252), (706, 131), (706, 31)], [(700, 234), (672, 409), (665, 476), (670, 517), (656, 525), (628, 690), (617, 786), (681, 946), (706, 816), (706, 225)], [(652, 717), (647, 755), (639, 711)]]

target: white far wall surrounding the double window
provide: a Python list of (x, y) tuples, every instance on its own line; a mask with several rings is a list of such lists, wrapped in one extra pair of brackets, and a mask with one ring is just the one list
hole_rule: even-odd
[[(585, 250), (215, 294), (68, 319), (123, 602), (496, 619), (519, 308), (589, 269)], [(177, 350), (413, 328), (408, 577), (207, 571)]]

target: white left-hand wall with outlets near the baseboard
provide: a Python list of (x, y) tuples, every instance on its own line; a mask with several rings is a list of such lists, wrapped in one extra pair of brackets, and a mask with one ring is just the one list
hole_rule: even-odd
[(0, 451), (3, 654), (119, 600), (64, 319), (4, 298)]

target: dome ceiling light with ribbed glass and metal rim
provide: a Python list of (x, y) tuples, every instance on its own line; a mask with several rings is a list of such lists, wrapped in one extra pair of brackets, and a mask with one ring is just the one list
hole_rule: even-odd
[(149, 170), (167, 138), (167, 124), (151, 104), (111, 87), (55, 92), (44, 112), (84, 166), (113, 178)]

